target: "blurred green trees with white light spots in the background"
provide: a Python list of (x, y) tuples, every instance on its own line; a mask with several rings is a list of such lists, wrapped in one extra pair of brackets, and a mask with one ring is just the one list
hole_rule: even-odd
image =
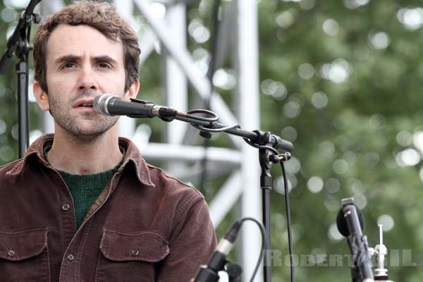
[[(0, 1), (1, 51), (26, 4)], [(406, 265), (410, 259), (417, 265), (423, 262), (422, 2), (257, 4), (261, 129), (295, 145), (293, 159), (286, 163), (294, 252), (314, 255), (311, 264), (317, 264), (297, 266), (296, 281), (350, 281), (347, 260), (329, 267), (318, 256), (350, 252), (334, 224), (344, 197), (355, 197), (362, 209), (372, 247), (378, 243), (377, 224), (384, 225), (384, 243), (394, 255), (398, 252), (398, 262), (391, 257), (393, 265), (388, 265), (391, 279), (420, 281), (423, 270)], [(188, 23), (200, 20), (210, 29), (212, 6), (212, 0), (193, 1)], [(207, 39), (188, 38), (191, 47), (209, 49)], [(158, 61), (156, 54), (141, 68), (144, 98), (156, 102), (161, 92)], [(224, 86), (216, 89), (228, 92)], [(152, 128), (152, 138), (159, 139), (161, 123), (142, 122)], [(0, 165), (18, 158), (17, 123), (12, 64), (0, 77)], [(39, 126), (39, 110), (31, 103), (31, 130)], [(273, 173), (272, 249), (282, 254), (273, 281), (279, 282), (289, 277), (288, 239), (280, 168), (275, 166)], [(204, 193), (212, 197), (214, 190)], [(219, 228), (218, 235), (223, 231)]]

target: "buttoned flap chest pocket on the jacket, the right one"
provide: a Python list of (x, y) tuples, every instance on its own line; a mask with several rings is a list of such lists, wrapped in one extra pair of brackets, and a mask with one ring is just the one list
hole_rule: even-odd
[(154, 232), (121, 233), (104, 229), (96, 282), (154, 281), (157, 263), (169, 253), (168, 242)]

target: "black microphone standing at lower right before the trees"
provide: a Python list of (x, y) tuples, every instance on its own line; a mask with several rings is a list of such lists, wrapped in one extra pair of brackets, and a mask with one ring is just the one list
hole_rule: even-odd
[[(362, 282), (374, 282), (372, 261), (368, 253), (367, 237), (363, 235), (364, 219), (354, 204), (353, 198), (341, 200), (342, 207), (336, 216), (336, 226), (339, 233), (348, 237), (348, 245), (353, 255), (355, 267), (358, 268)], [(353, 281), (356, 281), (357, 269), (353, 271)]]

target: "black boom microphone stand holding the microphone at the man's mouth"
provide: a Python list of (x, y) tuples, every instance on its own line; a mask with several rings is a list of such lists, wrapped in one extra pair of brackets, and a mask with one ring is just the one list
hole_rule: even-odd
[[(130, 99), (132, 102), (141, 104), (149, 104), (139, 99)], [(170, 109), (170, 108), (168, 108)], [(173, 110), (173, 109), (171, 109)], [(165, 113), (165, 111), (164, 111)], [(195, 114), (206, 114), (212, 118), (204, 118)], [(130, 118), (145, 118), (145, 116), (129, 116)], [(270, 248), (270, 190), (271, 190), (271, 173), (270, 168), (272, 164), (278, 164), (281, 161), (288, 161), (290, 159), (290, 151), (293, 150), (293, 144), (289, 141), (283, 140), (281, 137), (271, 134), (270, 132), (262, 132), (259, 130), (248, 131), (240, 128), (240, 125), (226, 126), (218, 123), (219, 117), (212, 111), (208, 110), (193, 110), (188, 111), (187, 114), (179, 111), (169, 111), (168, 116), (159, 116), (163, 121), (185, 121), (190, 123), (193, 127), (200, 130), (200, 135), (209, 139), (212, 137), (211, 133), (227, 133), (243, 137), (245, 142), (252, 147), (259, 149), (259, 163), (262, 168), (262, 175), (260, 176), (260, 186), (262, 189), (262, 204), (263, 204), (263, 223), (265, 228), (266, 248), (264, 251), (264, 282), (271, 281), (271, 254)], [(278, 154), (276, 149), (286, 151), (283, 154)]]

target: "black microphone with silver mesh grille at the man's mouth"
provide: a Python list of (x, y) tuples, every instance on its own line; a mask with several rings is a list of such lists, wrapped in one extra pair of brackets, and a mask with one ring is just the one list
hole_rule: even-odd
[(129, 116), (130, 118), (171, 119), (178, 114), (168, 106), (159, 106), (152, 102), (130, 98), (125, 99), (114, 94), (101, 94), (92, 103), (94, 111), (105, 116)]

